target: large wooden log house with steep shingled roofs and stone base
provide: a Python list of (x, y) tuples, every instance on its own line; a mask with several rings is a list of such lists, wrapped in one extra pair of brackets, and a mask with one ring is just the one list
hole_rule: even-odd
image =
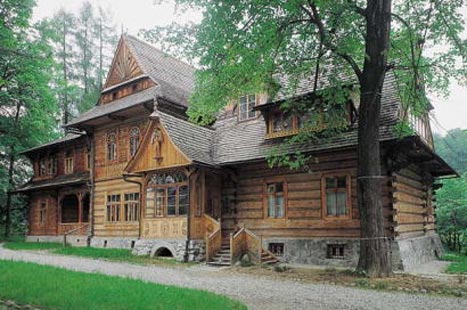
[[(249, 253), (263, 262), (355, 266), (354, 119), (332, 137), (302, 144), (311, 155), (306, 167), (269, 168), (268, 152), (302, 130), (308, 113), (284, 115), (281, 92), (250, 94), (212, 126), (192, 124), (193, 74), (190, 65), (122, 36), (98, 104), (66, 125), (75, 134), (25, 152), (35, 170), (18, 189), (32, 198), (28, 239), (66, 235), (75, 245), (226, 265)], [(294, 96), (307, 100), (312, 84), (302, 84)], [(395, 85), (388, 74), (381, 195), (392, 260), (409, 268), (442, 251), (434, 181), (456, 172), (434, 152), (427, 117), (411, 118), (412, 136), (396, 134), (404, 115)], [(349, 105), (351, 113), (352, 98)]]

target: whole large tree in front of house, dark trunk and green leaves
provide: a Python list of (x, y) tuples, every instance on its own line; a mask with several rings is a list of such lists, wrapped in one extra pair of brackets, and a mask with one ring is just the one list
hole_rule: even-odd
[[(277, 73), (293, 85), (314, 77), (314, 90), (328, 102), (342, 101), (346, 85), (360, 90), (358, 205), (361, 245), (358, 268), (370, 276), (391, 271), (380, 193), (380, 94), (393, 70), (405, 109), (425, 113), (425, 90), (446, 89), (464, 77), (467, 59), (459, 9), (462, 1), (439, 0), (178, 0), (203, 12), (200, 24), (174, 24), (147, 31), (148, 38), (178, 45), (199, 59), (190, 116), (210, 123), (227, 102), (275, 87)], [(394, 3), (392, 3), (394, 2)], [(162, 31), (161, 31), (162, 30)], [(190, 37), (194, 34), (194, 37)], [(427, 53), (426, 46), (444, 44)], [(454, 64), (454, 65), (453, 65)], [(336, 78), (338, 77), (338, 78)], [(350, 78), (342, 78), (350, 77)], [(330, 87), (321, 90), (318, 80)], [(285, 104), (293, 107), (294, 102)], [(308, 137), (304, 135), (303, 137)], [(294, 139), (297, 141), (297, 139)], [(302, 158), (302, 156), (300, 156)]]

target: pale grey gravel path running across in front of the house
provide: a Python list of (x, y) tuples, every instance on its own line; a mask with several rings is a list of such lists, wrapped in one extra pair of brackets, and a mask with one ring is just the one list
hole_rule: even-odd
[(241, 300), (250, 309), (467, 309), (467, 299), (379, 292), (248, 275), (232, 275), (204, 265), (171, 269), (47, 253), (11, 251), (1, 247), (0, 259), (35, 262), (76, 271), (203, 289)]

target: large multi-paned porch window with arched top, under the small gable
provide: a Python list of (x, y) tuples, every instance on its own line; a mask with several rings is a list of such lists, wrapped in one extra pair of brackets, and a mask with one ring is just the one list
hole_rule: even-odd
[(187, 176), (183, 172), (161, 173), (151, 177), (146, 194), (146, 216), (185, 215), (189, 207)]

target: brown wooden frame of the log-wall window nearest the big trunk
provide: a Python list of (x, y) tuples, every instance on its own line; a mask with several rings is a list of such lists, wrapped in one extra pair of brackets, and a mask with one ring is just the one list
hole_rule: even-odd
[[(345, 210), (346, 214), (344, 215), (328, 215), (327, 210), (327, 201), (326, 201), (326, 194), (328, 192), (326, 187), (326, 179), (330, 178), (342, 178), (345, 177), (346, 181), (346, 197), (345, 197)], [(337, 188), (337, 189), (342, 189)], [(325, 220), (347, 220), (352, 219), (352, 177), (349, 172), (336, 172), (336, 173), (326, 173), (323, 174), (321, 177), (321, 218)]]

